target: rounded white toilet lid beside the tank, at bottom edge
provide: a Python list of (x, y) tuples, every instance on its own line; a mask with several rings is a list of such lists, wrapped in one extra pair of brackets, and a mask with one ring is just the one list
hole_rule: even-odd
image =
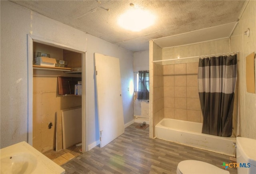
[(177, 168), (182, 174), (229, 174), (227, 170), (197, 160), (182, 161)]

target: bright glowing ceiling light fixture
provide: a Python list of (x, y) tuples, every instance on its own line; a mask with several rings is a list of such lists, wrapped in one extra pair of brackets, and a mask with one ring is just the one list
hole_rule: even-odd
[(155, 16), (147, 10), (133, 8), (122, 14), (118, 18), (118, 24), (127, 30), (139, 32), (149, 26), (152, 26)]

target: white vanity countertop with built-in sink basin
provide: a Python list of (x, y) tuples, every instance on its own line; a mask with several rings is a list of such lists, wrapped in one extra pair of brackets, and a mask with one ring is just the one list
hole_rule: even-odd
[(0, 149), (1, 174), (64, 174), (64, 168), (26, 142)]

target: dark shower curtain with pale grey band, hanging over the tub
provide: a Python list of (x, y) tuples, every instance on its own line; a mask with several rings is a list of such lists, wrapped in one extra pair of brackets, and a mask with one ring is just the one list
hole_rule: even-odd
[(198, 91), (204, 119), (202, 133), (232, 135), (236, 72), (236, 55), (199, 59)]

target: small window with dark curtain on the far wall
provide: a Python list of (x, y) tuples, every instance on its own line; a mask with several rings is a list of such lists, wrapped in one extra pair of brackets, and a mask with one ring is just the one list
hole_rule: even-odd
[(149, 71), (139, 71), (137, 85), (138, 99), (149, 100)]

